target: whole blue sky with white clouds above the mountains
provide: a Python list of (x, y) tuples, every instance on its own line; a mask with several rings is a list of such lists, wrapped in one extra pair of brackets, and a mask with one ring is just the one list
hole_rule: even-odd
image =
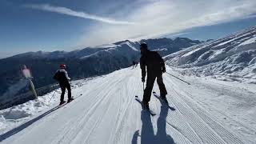
[(256, 25), (255, 0), (1, 0), (0, 58), (124, 39), (221, 38)]

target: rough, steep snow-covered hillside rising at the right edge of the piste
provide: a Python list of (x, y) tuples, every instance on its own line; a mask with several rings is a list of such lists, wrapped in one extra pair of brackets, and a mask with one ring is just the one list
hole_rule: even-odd
[(256, 84), (256, 26), (166, 56), (184, 74)]

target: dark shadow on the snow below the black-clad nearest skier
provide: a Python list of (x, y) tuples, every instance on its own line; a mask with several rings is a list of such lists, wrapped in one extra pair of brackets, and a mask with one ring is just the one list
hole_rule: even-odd
[[(168, 115), (168, 109), (169, 107), (167, 106), (161, 106), (161, 112), (157, 122), (158, 131), (156, 135), (154, 135), (150, 114), (147, 111), (142, 110), (142, 132), (140, 135), (141, 144), (174, 144), (174, 139), (171, 138), (170, 135), (166, 134), (166, 117)], [(138, 136), (139, 134), (137, 130), (134, 133), (132, 144), (138, 143)]]

